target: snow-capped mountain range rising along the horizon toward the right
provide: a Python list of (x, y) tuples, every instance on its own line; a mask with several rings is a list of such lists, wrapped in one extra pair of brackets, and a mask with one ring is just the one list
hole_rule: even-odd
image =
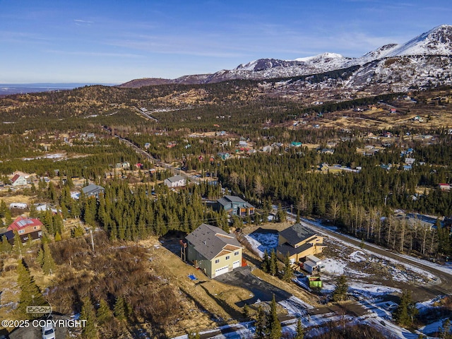
[[(232, 79), (264, 80), (309, 76), (339, 69), (353, 69), (342, 88), (365, 90), (372, 84), (387, 84), (388, 90), (407, 90), (424, 85), (452, 82), (452, 26), (441, 25), (405, 44), (386, 44), (359, 58), (323, 53), (295, 60), (258, 59), (232, 70), (213, 74), (182, 76), (167, 83), (218, 83)], [(160, 83), (161, 83), (160, 79)], [(131, 81), (124, 87), (141, 87), (146, 79)], [(338, 81), (338, 80), (336, 80)], [(148, 79), (149, 82), (149, 79)], [(149, 83), (147, 83), (148, 85)]]

